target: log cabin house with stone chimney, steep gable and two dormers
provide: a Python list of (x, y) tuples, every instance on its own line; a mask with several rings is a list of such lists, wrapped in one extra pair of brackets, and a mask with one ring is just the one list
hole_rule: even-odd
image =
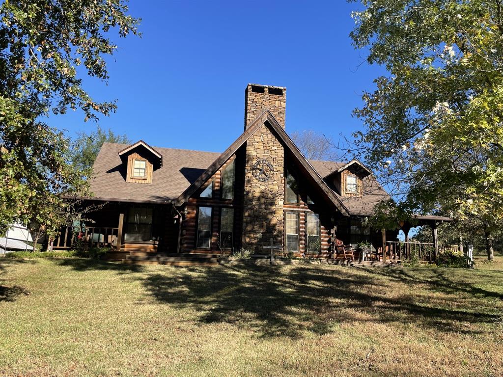
[[(313, 258), (347, 258), (337, 245), (369, 241), (377, 259), (392, 257), (382, 250), (397, 231), (362, 223), (387, 198), (372, 172), (356, 159), (307, 160), (285, 132), (285, 110), (286, 88), (248, 84), (244, 130), (221, 154), (142, 140), (105, 143), (94, 164), (94, 196), (82, 198), (104, 206), (89, 214), (83, 237), (115, 250), (111, 258), (147, 262), (239, 250), (268, 254), (271, 240), (283, 253)], [(53, 247), (71, 242), (66, 232)]]

